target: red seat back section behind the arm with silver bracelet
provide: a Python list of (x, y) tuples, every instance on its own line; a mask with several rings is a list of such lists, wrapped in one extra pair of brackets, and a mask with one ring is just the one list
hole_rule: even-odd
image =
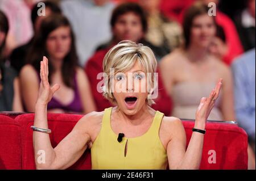
[[(53, 148), (72, 131), (81, 117), (82, 115), (48, 113), (48, 127), (52, 130), (49, 135)], [(22, 169), (36, 169), (32, 142), (33, 132), (30, 128), (34, 123), (34, 113), (19, 115), (15, 120), (22, 125)], [(90, 152), (85, 151), (82, 157), (69, 169), (91, 169)]]

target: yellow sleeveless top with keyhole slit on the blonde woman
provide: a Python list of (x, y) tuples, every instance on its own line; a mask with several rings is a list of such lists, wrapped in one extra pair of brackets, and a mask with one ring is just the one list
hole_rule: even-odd
[(151, 127), (142, 136), (123, 137), (118, 142), (110, 124), (111, 112), (112, 107), (105, 109), (101, 131), (93, 143), (92, 169), (166, 169), (167, 153), (159, 138), (164, 114), (156, 111)]

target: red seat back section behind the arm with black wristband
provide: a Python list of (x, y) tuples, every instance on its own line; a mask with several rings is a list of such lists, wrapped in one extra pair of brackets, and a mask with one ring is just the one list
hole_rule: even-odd
[[(194, 121), (184, 121), (187, 146)], [(206, 125), (200, 169), (247, 169), (247, 134), (236, 124), (210, 123)]]

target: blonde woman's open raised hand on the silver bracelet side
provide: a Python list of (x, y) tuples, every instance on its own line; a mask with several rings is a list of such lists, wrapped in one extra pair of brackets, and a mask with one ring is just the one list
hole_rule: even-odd
[(48, 59), (44, 56), (43, 61), (40, 61), (40, 87), (38, 93), (38, 100), (36, 103), (47, 105), (52, 99), (53, 94), (60, 89), (60, 85), (55, 84), (50, 87), (48, 81)]

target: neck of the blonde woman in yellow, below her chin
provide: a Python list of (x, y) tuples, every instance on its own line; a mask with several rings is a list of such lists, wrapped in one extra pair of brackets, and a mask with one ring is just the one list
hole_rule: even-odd
[(118, 107), (117, 107), (117, 113), (121, 118), (121, 120), (124, 120), (125, 123), (128, 125), (139, 125), (143, 123), (145, 120), (147, 120), (149, 116), (151, 116), (150, 110), (148, 109), (147, 104), (144, 104), (141, 110), (139, 110), (139, 112), (137, 112), (135, 115), (126, 115)]

